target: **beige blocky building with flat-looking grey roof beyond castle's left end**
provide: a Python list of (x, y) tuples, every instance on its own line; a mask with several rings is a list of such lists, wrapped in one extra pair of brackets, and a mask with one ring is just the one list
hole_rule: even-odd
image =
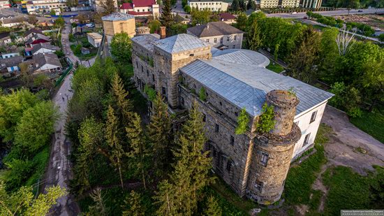
[(108, 44), (115, 34), (125, 32), (129, 37), (135, 36), (135, 17), (126, 13), (111, 13), (101, 17), (103, 20), (104, 34), (107, 36)]

